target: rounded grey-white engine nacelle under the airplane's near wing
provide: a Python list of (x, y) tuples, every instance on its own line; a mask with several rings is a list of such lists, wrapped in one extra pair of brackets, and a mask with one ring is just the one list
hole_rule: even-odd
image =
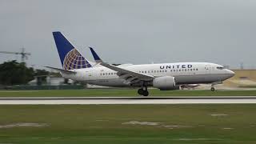
[(175, 78), (171, 76), (154, 78), (153, 86), (160, 90), (179, 90), (179, 86), (175, 85)]

